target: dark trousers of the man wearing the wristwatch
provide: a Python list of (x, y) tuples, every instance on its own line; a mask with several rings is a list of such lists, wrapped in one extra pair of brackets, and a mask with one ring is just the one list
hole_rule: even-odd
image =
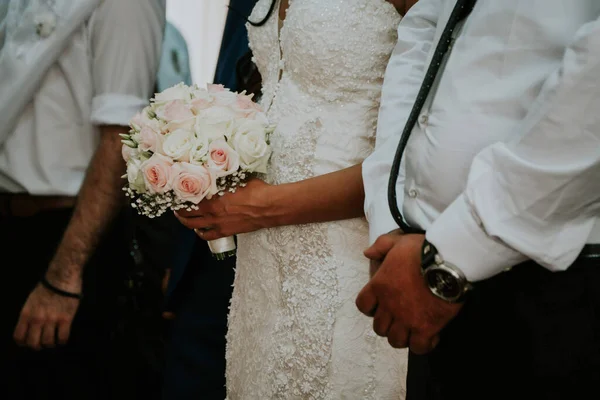
[(600, 398), (600, 257), (481, 282), (436, 350), (410, 354), (407, 400)]

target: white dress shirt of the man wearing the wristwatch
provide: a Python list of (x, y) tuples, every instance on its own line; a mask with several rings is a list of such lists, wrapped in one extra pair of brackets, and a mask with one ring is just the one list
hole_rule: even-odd
[[(398, 28), (363, 164), (372, 240), (398, 228), (390, 167), (455, 3), (420, 0)], [(397, 191), (407, 221), (471, 281), (527, 259), (564, 270), (600, 243), (599, 16), (598, 0), (479, 0), (455, 31)]]

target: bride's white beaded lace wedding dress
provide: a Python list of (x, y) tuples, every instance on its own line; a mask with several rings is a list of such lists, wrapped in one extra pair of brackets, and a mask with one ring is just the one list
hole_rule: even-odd
[[(270, 3), (259, 0), (250, 19)], [(400, 16), (384, 0), (293, 0), (281, 28), (277, 14), (249, 26), (261, 103), (277, 124), (267, 181), (361, 163), (373, 150)], [(376, 336), (355, 306), (369, 280), (368, 245), (362, 218), (238, 237), (229, 400), (404, 398), (406, 352)]]

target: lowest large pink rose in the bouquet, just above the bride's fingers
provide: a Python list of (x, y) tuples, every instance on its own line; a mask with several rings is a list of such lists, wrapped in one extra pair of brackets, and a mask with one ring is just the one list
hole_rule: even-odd
[(173, 192), (183, 201), (198, 204), (204, 198), (210, 199), (217, 193), (215, 176), (202, 165), (177, 163), (173, 167), (171, 179)]

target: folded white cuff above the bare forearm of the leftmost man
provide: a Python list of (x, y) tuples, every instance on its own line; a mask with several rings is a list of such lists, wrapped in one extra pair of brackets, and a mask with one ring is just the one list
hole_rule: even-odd
[(148, 99), (126, 94), (101, 94), (92, 99), (90, 120), (94, 125), (128, 126), (131, 118), (148, 104)]

